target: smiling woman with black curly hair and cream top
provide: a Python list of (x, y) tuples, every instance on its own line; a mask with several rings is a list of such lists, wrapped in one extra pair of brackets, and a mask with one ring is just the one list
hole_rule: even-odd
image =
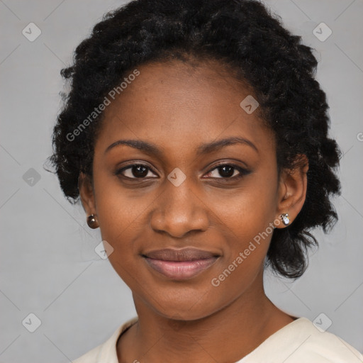
[(316, 66), (247, 0), (131, 1), (78, 46), (51, 160), (138, 317), (76, 363), (362, 362), (264, 294), (337, 219)]

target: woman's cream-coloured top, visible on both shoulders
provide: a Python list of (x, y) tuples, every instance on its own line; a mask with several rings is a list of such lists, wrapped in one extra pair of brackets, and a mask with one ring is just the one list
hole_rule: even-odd
[[(103, 344), (73, 363), (118, 363), (118, 337), (138, 318), (121, 325)], [(136, 361), (137, 362), (137, 361)], [(363, 363), (363, 355), (344, 340), (320, 332), (307, 318), (298, 318), (264, 340), (255, 350), (235, 363)]]

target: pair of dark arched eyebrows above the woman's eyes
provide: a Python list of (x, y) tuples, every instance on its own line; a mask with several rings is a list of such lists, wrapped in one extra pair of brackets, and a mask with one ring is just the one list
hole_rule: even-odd
[[(252, 149), (254, 149), (257, 153), (259, 152), (255, 144), (252, 143), (250, 140), (236, 137), (236, 138), (224, 138), (221, 140), (213, 141), (211, 143), (203, 143), (199, 145), (199, 147), (197, 148), (197, 155), (208, 154), (210, 152), (218, 151), (223, 147), (236, 144), (248, 145), (252, 147)], [(162, 150), (158, 149), (156, 145), (142, 140), (117, 140), (106, 148), (105, 154), (106, 152), (113, 149), (113, 147), (116, 147), (118, 145), (127, 145), (130, 147), (134, 147), (135, 149), (146, 152), (147, 154), (156, 155), (158, 157), (162, 155)]]

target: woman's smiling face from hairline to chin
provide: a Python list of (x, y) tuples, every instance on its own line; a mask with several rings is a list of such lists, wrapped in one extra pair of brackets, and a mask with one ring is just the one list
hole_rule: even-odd
[(169, 318), (203, 318), (261, 290), (284, 193), (274, 137), (258, 108), (240, 106), (250, 91), (216, 63), (138, 70), (108, 97), (94, 192), (82, 202), (135, 302)]

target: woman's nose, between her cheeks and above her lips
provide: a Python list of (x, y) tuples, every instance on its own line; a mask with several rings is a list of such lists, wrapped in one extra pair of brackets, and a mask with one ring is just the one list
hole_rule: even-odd
[(166, 181), (166, 189), (155, 201), (150, 227), (157, 232), (182, 238), (191, 231), (206, 231), (208, 207), (186, 180), (179, 186)]

